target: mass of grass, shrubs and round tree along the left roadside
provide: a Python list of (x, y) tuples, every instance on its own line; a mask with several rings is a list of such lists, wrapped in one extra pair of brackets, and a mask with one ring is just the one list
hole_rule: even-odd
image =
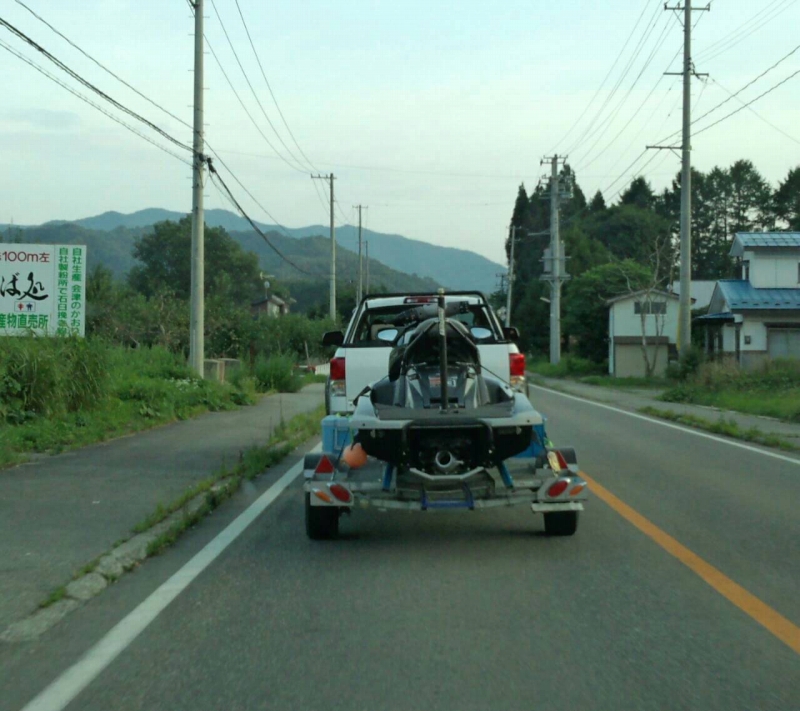
[(297, 314), (253, 314), (264, 295), (255, 255), (224, 230), (206, 233), (206, 357), (238, 359), (225, 384), (187, 367), (190, 222), (165, 222), (136, 244), (125, 280), (95, 267), (87, 334), (0, 338), (0, 467), (115, 436), (229, 410), (317, 378), (300, 365), (327, 355), (333, 326)]

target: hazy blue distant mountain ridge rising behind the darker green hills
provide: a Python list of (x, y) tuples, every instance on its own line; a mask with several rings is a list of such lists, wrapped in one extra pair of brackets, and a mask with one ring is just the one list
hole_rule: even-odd
[[(163, 220), (179, 220), (185, 214), (162, 208), (147, 208), (130, 214), (110, 211), (93, 217), (72, 220), (69, 221), (69, 224), (100, 232), (111, 232), (120, 227), (138, 230)], [(228, 232), (252, 232), (252, 227), (247, 220), (228, 210), (206, 210), (205, 219), (206, 224), (212, 227), (223, 227)], [(52, 221), (41, 227), (63, 225), (65, 222), (67, 221)], [(256, 222), (256, 224), (264, 232), (276, 232), (285, 236), (281, 228), (275, 225), (261, 222)], [(0, 229), (5, 229), (5, 227), (0, 225)], [(286, 229), (286, 233), (296, 238), (327, 237), (328, 231), (327, 225)], [(477, 289), (487, 293), (494, 291), (497, 272), (505, 270), (503, 265), (492, 262), (475, 252), (455, 247), (441, 247), (398, 234), (384, 234), (365, 229), (363, 230), (363, 239), (369, 241), (371, 259), (376, 259), (399, 272), (427, 277), (452, 289)], [(337, 227), (336, 242), (357, 252), (358, 228), (353, 225)]]

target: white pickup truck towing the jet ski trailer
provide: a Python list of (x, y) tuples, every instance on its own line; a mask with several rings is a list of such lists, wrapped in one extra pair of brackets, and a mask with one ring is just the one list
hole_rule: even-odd
[[(337, 346), (330, 363), (325, 404), (328, 414), (350, 414), (353, 400), (370, 383), (389, 373), (390, 341), (381, 331), (397, 333), (399, 325), (415, 314), (422, 318), (436, 308), (435, 294), (375, 294), (365, 297), (345, 332), (330, 331), (323, 345)], [(516, 345), (514, 328), (504, 328), (478, 291), (454, 291), (445, 296), (448, 317), (466, 325), (476, 338), (481, 365), (490, 373), (527, 394), (525, 355)]]

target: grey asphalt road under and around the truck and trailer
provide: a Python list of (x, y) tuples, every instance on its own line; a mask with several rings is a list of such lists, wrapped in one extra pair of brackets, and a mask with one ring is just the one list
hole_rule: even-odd
[(618, 497), (592, 496), (573, 538), (520, 508), (357, 512), (314, 543), (294, 480), (78, 679), (279, 470), (37, 643), (0, 647), (0, 707), (78, 679), (68, 705), (59, 691), (28, 708), (800, 709), (800, 465), (533, 394), (551, 438)]

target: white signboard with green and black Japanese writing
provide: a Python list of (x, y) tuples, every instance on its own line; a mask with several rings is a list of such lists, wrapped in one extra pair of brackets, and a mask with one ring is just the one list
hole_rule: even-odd
[(0, 243), (0, 335), (85, 332), (86, 247)]

